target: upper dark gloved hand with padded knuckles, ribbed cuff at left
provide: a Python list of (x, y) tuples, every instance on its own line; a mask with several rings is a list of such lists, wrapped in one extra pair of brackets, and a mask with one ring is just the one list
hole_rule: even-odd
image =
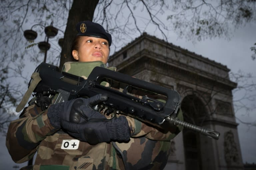
[[(99, 102), (107, 100), (107, 96), (98, 94), (90, 98), (77, 98), (70, 101), (58, 103), (55, 105), (51, 105), (48, 109), (48, 119), (50, 124), (55, 128), (61, 128), (60, 122), (62, 120), (66, 120), (69, 122), (74, 123), (82, 123), (86, 122), (79, 113), (81, 114), (83, 111), (81, 110), (80, 106), (92, 107), (97, 105)], [(88, 112), (92, 112), (93, 110), (90, 109)]]

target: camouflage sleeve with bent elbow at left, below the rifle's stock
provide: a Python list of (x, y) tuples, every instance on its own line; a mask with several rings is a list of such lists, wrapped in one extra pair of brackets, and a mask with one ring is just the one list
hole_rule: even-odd
[(50, 125), (47, 111), (36, 105), (23, 110), (20, 119), (12, 121), (6, 136), (6, 147), (16, 163), (22, 163), (35, 154), (41, 140), (57, 129)]

